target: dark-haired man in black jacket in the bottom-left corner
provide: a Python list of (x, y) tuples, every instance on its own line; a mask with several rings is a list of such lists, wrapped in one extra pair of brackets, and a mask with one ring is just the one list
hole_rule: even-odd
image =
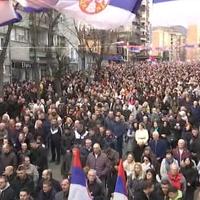
[(16, 198), (13, 189), (5, 176), (0, 176), (0, 199), (14, 200)]

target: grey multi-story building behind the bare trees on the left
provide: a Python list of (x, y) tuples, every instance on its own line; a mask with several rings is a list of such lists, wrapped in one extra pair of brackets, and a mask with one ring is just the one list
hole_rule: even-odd
[[(32, 18), (28, 13), (21, 12), (21, 14), (23, 15), (23, 20), (20, 23), (14, 24), (10, 35), (4, 63), (5, 82), (32, 80), (36, 67), (40, 78), (51, 73), (47, 67), (48, 17), (46, 14), (41, 14), (37, 17), (37, 42), (33, 45)], [(66, 30), (66, 27), (69, 28), (69, 26), (73, 29), (72, 19), (67, 18), (67, 21), (68, 23), (66, 23), (65, 17), (61, 16), (53, 32), (53, 46), (50, 47), (52, 52), (51, 65), (53, 68), (57, 65), (56, 53), (58, 52), (68, 57), (73, 66), (78, 66), (78, 55), (76, 52), (78, 41), (75, 34)], [(2, 50), (6, 30), (7, 27), (0, 28), (0, 51)], [(69, 39), (70, 43), (68, 42)]]

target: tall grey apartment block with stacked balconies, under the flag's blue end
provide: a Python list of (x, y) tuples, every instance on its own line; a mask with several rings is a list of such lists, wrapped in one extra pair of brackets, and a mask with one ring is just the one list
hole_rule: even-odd
[[(149, 0), (143, 0), (134, 21), (118, 29), (118, 41), (126, 43), (126, 48), (118, 50), (118, 53), (122, 54), (127, 61), (148, 58), (151, 32), (149, 9)], [(138, 51), (134, 50), (133, 46), (141, 46), (142, 48)]]

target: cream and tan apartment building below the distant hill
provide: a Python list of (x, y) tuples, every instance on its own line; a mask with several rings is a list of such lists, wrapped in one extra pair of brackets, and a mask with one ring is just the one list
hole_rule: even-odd
[(154, 27), (151, 55), (168, 61), (184, 61), (185, 40), (186, 29), (184, 27)]

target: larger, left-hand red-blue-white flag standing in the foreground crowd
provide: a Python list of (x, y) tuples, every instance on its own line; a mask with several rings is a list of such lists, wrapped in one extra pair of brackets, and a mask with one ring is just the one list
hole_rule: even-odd
[(91, 200), (86, 187), (86, 177), (81, 167), (80, 151), (73, 149), (72, 176), (68, 200)]

